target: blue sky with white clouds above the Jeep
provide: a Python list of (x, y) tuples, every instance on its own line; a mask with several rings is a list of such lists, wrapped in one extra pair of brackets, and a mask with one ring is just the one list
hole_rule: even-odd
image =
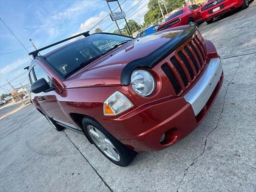
[[(148, 0), (119, 0), (119, 3), (122, 4), (121, 7), (127, 19), (144, 22), (144, 14), (148, 11)], [(117, 2), (109, 4), (112, 10), (118, 6)], [(118, 8), (114, 12), (119, 11)], [(0, 18), (28, 52), (34, 51), (29, 39), (32, 39), (37, 48), (42, 48), (90, 30), (109, 13), (105, 0), (0, 0)], [(118, 23), (123, 21), (118, 20)], [(112, 25), (109, 26), (110, 24)], [(125, 22), (120, 24), (120, 28), (123, 28), (124, 24)], [(93, 33), (96, 28), (103, 30), (106, 27), (108, 28), (104, 32), (113, 32), (116, 29), (115, 26), (110, 16), (107, 16), (90, 33)], [(56, 47), (40, 53), (46, 54), (54, 48)], [(11, 91), (10, 85), (6, 84), (6, 79), (10, 81), (26, 72), (24, 67), (29, 66), (31, 62), (28, 52), (0, 21), (0, 94), (4, 93), (3, 88), (7, 92)], [(11, 81), (11, 84), (17, 88), (20, 82), (28, 84), (26, 74)]]

